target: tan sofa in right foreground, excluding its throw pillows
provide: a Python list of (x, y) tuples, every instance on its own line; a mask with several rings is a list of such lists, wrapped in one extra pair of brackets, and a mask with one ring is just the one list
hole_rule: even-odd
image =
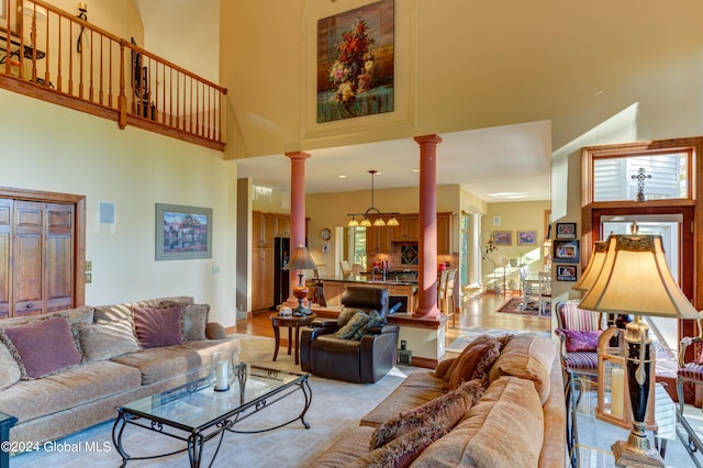
[[(437, 372), (439, 366), (437, 367)], [(539, 334), (514, 335), (490, 367), (486, 390), (469, 403), (448, 433), (420, 447), (413, 467), (554, 467), (566, 466), (566, 409), (561, 368), (555, 343)], [(478, 380), (476, 380), (478, 381)], [(350, 433), (324, 452), (311, 466), (389, 466), (369, 445), (378, 427), (391, 419), (416, 417), (447, 393), (447, 381), (433, 370), (416, 370)], [(432, 410), (433, 414), (448, 411)], [(413, 411), (414, 410), (414, 411)], [(399, 414), (403, 413), (403, 417)], [(413, 415), (415, 414), (415, 415)], [(413, 439), (403, 444), (412, 445)], [(403, 445), (401, 444), (401, 445)], [(394, 448), (398, 449), (398, 446)], [(408, 448), (403, 447), (404, 450)], [(373, 455), (376, 454), (376, 455)], [(383, 460), (379, 463), (380, 460)], [(376, 464), (376, 465), (375, 465)]]

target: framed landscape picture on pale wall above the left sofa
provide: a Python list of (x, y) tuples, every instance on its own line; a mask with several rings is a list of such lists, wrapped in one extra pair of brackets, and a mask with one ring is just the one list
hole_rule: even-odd
[(156, 203), (156, 259), (212, 258), (212, 209)]

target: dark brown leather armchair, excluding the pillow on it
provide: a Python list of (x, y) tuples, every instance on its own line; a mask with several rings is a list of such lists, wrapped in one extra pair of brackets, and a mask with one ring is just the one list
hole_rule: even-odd
[(343, 339), (334, 333), (360, 309), (388, 313), (388, 291), (378, 287), (350, 286), (342, 297), (336, 320), (324, 320), (301, 334), (300, 366), (319, 377), (357, 383), (375, 383), (395, 365), (398, 325), (369, 328), (361, 339)]

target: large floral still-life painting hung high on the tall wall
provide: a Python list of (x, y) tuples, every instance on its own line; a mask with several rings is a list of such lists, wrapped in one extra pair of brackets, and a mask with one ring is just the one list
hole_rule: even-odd
[(317, 123), (393, 111), (394, 0), (317, 21)]

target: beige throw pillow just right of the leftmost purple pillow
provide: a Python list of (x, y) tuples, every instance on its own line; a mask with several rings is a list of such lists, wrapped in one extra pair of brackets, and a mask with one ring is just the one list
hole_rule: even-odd
[(85, 363), (112, 359), (142, 349), (132, 331), (115, 323), (82, 326), (78, 331), (78, 339)]

